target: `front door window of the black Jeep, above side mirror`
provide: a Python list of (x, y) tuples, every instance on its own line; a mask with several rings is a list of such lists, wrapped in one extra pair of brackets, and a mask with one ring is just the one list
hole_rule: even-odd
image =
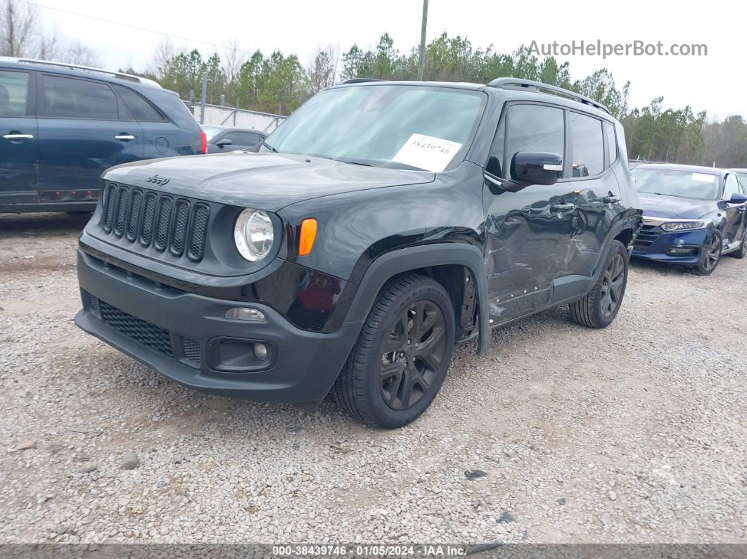
[[(549, 152), (563, 156), (565, 124), (563, 111), (555, 107), (535, 104), (515, 104), (509, 109), (506, 131), (506, 153)], [(558, 171), (558, 178), (562, 171)]]

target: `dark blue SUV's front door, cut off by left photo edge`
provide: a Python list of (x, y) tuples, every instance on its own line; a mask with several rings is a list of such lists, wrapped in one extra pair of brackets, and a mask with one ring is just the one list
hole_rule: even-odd
[(34, 72), (0, 68), (0, 205), (37, 202)]

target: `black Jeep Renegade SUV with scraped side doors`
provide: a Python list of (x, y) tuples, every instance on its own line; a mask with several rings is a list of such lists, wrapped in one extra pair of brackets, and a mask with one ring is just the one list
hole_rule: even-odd
[(622, 126), (513, 78), (353, 80), (258, 153), (103, 175), (81, 234), (85, 331), (188, 387), (394, 428), (455, 343), (569, 304), (604, 328), (641, 222)]

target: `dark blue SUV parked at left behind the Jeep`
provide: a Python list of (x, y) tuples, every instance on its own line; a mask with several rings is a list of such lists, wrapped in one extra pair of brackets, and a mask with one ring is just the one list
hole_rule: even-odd
[(0, 57), (0, 212), (86, 211), (120, 163), (205, 152), (176, 93), (117, 72)]

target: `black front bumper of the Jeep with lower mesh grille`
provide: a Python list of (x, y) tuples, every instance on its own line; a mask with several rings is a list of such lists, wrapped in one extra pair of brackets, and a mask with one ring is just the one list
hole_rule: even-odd
[[(319, 402), (360, 331), (296, 328), (267, 305), (186, 293), (78, 250), (83, 308), (75, 324), (162, 375), (206, 393), (263, 402)], [(227, 319), (233, 307), (261, 310), (266, 322)], [(252, 347), (267, 349), (264, 360)]]

